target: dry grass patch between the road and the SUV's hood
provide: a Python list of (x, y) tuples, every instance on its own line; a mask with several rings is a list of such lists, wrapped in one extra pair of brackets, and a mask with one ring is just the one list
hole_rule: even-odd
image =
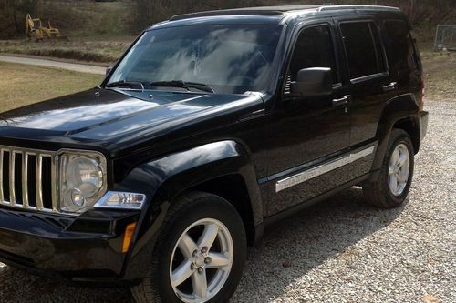
[(97, 86), (103, 76), (0, 62), (0, 112)]

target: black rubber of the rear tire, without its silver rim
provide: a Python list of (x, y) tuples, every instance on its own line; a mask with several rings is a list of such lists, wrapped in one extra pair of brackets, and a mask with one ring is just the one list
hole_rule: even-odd
[[(404, 202), (406, 199), (407, 195), (409, 195), (409, 189), (411, 186), (411, 181), (413, 179), (413, 168), (414, 168), (414, 150), (413, 146), (411, 144), (411, 140), (409, 138), (409, 135), (404, 132), (404, 131), (399, 131), (399, 130), (394, 130), (393, 134), (395, 136), (391, 137), (391, 141), (389, 144), (389, 153), (388, 157), (385, 158), (385, 170), (384, 170), (384, 176), (383, 176), (383, 184), (386, 192), (388, 192), (387, 199), (388, 203), (390, 205), (395, 205), (399, 206)], [(407, 185), (402, 191), (402, 193), (399, 196), (395, 196), (392, 192), (391, 189), (389, 188), (389, 161), (392, 157), (393, 151), (396, 148), (396, 146), (399, 146), (400, 144), (403, 144), (407, 146), (407, 149), (409, 151), (409, 179), (407, 180)]]

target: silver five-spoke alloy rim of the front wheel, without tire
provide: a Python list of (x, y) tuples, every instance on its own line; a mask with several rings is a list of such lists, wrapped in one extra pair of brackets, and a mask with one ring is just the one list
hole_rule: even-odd
[(171, 287), (181, 301), (202, 303), (223, 288), (233, 266), (233, 238), (217, 219), (194, 222), (173, 249)]

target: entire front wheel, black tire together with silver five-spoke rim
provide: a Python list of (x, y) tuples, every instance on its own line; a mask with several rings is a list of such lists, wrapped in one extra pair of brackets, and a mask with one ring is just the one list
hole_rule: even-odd
[[(217, 232), (214, 233), (213, 230)], [(210, 244), (211, 240), (202, 241), (202, 234), (216, 235), (213, 245)], [(202, 192), (192, 192), (180, 197), (171, 206), (158, 235), (150, 257), (148, 277), (144, 278), (140, 285), (131, 288), (136, 302), (213, 303), (227, 302), (232, 297), (243, 273), (247, 239), (243, 220), (229, 202), (222, 197)], [(193, 242), (189, 241), (189, 237)], [(211, 247), (204, 251), (205, 247), (200, 243), (209, 244)], [(189, 253), (193, 248), (197, 248), (196, 255)], [(223, 270), (211, 268), (219, 264)], [(186, 275), (178, 275), (177, 268), (186, 268)], [(179, 284), (183, 279), (181, 277), (187, 277), (189, 268), (192, 275)], [(203, 274), (200, 270), (203, 270)], [(176, 278), (175, 287), (171, 285), (171, 277), (174, 276), (180, 278)], [(204, 293), (204, 277), (207, 281), (206, 289), (212, 291), (207, 291), (206, 298), (196, 297), (195, 293)], [(198, 286), (199, 292), (194, 290), (193, 285)]]

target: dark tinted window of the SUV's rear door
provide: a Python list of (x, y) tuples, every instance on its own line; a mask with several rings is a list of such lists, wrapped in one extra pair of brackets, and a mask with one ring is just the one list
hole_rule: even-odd
[(385, 58), (374, 22), (341, 23), (350, 78), (371, 76), (386, 71)]

